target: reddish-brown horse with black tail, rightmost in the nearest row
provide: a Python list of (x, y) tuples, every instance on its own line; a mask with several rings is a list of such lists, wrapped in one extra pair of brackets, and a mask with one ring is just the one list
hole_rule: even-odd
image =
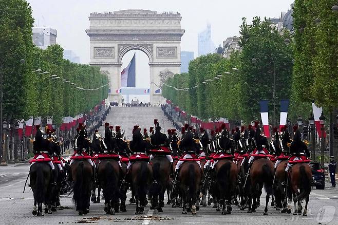
[[(309, 197), (311, 193), (311, 183), (312, 183), (312, 172), (311, 167), (307, 163), (297, 163), (290, 168), (289, 171), (290, 178), (290, 190), (288, 190), (289, 201), (294, 202), (294, 212), (293, 215), (297, 213), (302, 213), (302, 200), (305, 199), (305, 209), (303, 211), (303, 216), (307, 216)], [(299, 192), (298, 192), (299, 189)], [(292, 196), (291, 196), (291, 193)], [(297, 208), (298, 202), (298, 208)]]

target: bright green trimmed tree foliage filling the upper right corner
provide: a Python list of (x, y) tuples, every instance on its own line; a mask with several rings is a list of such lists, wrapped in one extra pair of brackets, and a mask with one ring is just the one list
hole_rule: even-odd
[(333, 5), (334, 0), (296, 0), (293, 13), (293, 96), (330, 111), (338, 105), (338, 15)]

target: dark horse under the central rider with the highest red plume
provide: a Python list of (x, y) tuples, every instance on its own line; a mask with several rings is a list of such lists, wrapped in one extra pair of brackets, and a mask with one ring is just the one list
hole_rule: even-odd
[(171, 173), (171, 164), (165, 156), (155, 155), (149, 162), (153, 168), (153, 183), (149, 189), (149, 195), (152, 196), (151, 209), (157, 209), (163, 212), (164, 194)]

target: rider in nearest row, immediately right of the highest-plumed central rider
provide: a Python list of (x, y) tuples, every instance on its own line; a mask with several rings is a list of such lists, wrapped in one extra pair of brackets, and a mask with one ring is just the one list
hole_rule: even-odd
[[(184, 163), (184, 159), (197, 159), (195, 154), (195, 139), (193, 138), (192, 130), (189, 129), (189, 125), (185, 124), (182, 127), (182, 138), (178, 143), (179, 149), (183, 152), (182, 156), (180, 157), (179, 161), (175, 167), (175, 173), (179, 170), (182, 163)], [(199, 141), (199, 140), (198, 140)], [(196, 161), (199, 167), (202, 169), (201, 163)]]

